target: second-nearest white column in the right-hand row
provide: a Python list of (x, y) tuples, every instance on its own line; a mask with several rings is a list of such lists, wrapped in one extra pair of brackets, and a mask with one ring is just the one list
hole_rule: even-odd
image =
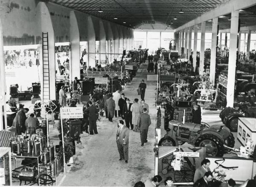
[(217, 47), (217, 32), (218, 32), (218, 17), (212, 19), (212, 48), (211, 48), (211, 61), (210, 61), (210, 82), (215, 82), (216, 70), (216, 47)]

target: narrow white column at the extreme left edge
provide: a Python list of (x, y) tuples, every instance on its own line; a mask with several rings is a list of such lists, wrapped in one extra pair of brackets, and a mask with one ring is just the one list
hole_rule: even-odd
[[(0, 130), (3, 130), (3, 123), (7, 127), (6, 120), (6, 85), (5, 85), (5, 67), (3, 55), (3, 27), (0, 20)], [(4, 119), (3, 117), (4, 116)]]

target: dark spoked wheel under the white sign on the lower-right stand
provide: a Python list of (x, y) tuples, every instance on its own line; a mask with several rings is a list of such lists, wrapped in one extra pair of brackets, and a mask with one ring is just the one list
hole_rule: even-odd
[(175, 171), (174, 173), (175, 182), (192, 182), (193, 178), (194, 172), (187, 167), (185, 167), (183, 170)]

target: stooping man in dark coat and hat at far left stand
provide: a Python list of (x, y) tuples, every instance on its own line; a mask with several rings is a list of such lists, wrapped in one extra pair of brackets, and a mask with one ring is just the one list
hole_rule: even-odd
[(25, 133), (26, 127), (25, 127), (25, 121), (26, 121), (26, 113), (29, 111), (28, 108), (23, 108), (20, 111), (17, 112), (13, 122), (12, 126), (16, 128), (17, 135), (21, 135), (21, 133)]

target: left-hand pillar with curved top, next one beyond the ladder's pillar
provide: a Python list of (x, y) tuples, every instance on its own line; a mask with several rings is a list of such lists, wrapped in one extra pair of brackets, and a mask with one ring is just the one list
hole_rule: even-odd
[(70, 42), (71, 42), (71, 62), (70, 62), (70, 78), (80, 79), (80, 35), (79, 28), (74, 11), (70, 11)]

